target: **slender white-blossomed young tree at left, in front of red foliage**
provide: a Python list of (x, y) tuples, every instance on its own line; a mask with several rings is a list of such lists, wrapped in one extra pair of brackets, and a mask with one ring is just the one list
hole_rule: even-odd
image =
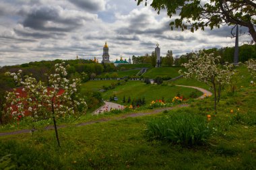
[(25, 94), (21, 95), (15, 90), (7, 92), (7, 114), (16, 120), (25, 115), (30, 116), (33, 121), (52, 118), (59, 146), (57, 118), (86, 112), (86, 102), (84, 99), (77, 99), (75, 95), (80, 80), (66, 79), (67, 71), (64, 65), (65, 62), (55, 65), (55, 74), (49, 76), (49, 87), (32, 77), (22, 77), (21, 70), (18, 73), (6, 73), (22, 86)]

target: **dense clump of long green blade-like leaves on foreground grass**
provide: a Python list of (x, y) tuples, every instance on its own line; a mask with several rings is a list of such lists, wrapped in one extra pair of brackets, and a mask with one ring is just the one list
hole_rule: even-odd
[(198, 114), (174, 112), (170, 116), (156, 118), (148, 122), (146, 134), (150, 139), (193, 146), (203, 144), (210, 136), (207, 120)]

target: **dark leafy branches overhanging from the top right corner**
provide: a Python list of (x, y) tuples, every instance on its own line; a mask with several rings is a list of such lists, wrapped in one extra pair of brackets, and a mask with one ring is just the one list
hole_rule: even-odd
[[(139, 5), (144, 0), (135, 0)], [(147, 5), (147, 0), (146, 0)], [(252, 0), (153, 0), (150, 4), (158, 13), (166, 9), (169, 17), (175, 16), (170, 28), (181, 28), (194, 32), (205, 27), (220, 28), (228, 26), (245, 26), (256, 42), (255, 7)]]

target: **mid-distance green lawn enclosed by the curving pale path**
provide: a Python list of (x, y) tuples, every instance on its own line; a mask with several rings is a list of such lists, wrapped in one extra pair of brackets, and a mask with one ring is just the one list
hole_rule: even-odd
[[(129, 96), (131, 99), (145, 97), (146, 102), (149, 104), (152, 100), (162, 99), (162, 97), (170, 102), (178, 93), (188, 98), (192, 91), (195, 91), (195, 89), (171, 85), (146, 85), (146, 83), (141, 81), (128, 81), (125, 85), (120, 85), (113, 90), (102, 93), (102, 96), (104, 99), (109, 99), (110, 95), (115, 94), (119, 98), (118, 103), (121, 104), (123, 104), (123, 96), (125, 96), (126, 99), (128, 99)], [(197, 93), (199, 95), (202, 94), (200, 91), (197, 91)]]

